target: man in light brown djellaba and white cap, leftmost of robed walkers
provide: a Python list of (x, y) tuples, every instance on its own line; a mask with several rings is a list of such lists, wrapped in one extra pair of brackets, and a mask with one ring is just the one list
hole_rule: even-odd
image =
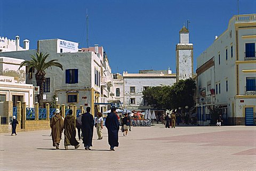
[(55, 115), (51, 119), (50, 123), (52, 129), (52, 145), (56, 149), (59, 149), (59, 144), (61, 140), (61, 133), (64, 127), (64, 121), (60, 115), (60, 110), (55, 110)]

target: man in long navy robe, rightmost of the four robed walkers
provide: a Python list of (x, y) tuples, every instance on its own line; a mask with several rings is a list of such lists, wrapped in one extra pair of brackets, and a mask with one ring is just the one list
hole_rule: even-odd
[(108, 144), (110, 146), (110, 151), (115, 151), (114, 148), (118, 147), (118, 118), (116, 116), (116, 108), (112, 108), (111, 112), (108, 114), (105, 126), (108, 129)]

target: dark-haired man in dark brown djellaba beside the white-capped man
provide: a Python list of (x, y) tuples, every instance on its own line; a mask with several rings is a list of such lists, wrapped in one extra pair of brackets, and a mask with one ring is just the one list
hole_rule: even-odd
[(75, 149), (79, 147), (79, 142), (76, 140), (76, 119), (72, 115), (73, 110), (69, 110), (68, 113), (64, 119), (65, 150), (68, 149), (68, 146), (75, 146)]

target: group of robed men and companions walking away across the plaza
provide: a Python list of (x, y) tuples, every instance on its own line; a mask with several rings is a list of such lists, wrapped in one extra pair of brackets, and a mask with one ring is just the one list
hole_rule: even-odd
[[(53, 147), (59, 149), (59, 144), (61, 140), (61, 134), (64, 131), (65, 139), (64, 146), (68, 150), (68, 146), (74, 146), (75, 149), (79, 147), (79, 142), (76, 140), (76, 128), (78, 131), (78, 139), (83, 140), (85, 150), (91, 150), (92, 147), (92, 138), (93, 138), (93, 127), (94, 119), (90, 114), (91, 108), (86, 108), (86, 113), (79, 114), (77, 119), (73, 116), (73, 110), (69, 110), (68, 115), (63, 119), (60, 115), (60, 110), (55, 110), (55, 115), (51, 118), (51, 135)], [(110, 151), (115, 151), (114, 148), (118, 147), (118, 130), (119, 123), (116, 116), (116, 108), (112, 108), (111, 112), (108, 114), (105, 126), (108, 129), (108, 143), (110, 146)], [(102, 140), (102, 129), (103, 129), (103, 118), (102, 114), (97, 114), (96, 119), (97, 134), (98, 140)]]

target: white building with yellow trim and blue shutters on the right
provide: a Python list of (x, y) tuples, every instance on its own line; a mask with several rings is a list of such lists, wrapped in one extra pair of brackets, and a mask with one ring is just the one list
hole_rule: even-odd
[(227, 30), (197, 58), (198, 104), (206, 114), (218, 105), (227, 124), (254, 124), (255, 44), (256, 14), (234, 15)]

